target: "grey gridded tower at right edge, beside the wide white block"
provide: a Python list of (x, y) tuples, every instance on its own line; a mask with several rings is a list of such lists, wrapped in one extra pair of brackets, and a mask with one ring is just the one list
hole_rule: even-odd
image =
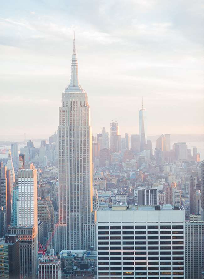
[(201, 279), (204, 266), (204, 222), (190, 215), (185, 223), (185, 279)]

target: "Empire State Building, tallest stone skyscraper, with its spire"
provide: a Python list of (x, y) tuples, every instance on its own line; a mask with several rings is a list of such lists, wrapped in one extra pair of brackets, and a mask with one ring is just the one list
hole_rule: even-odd
[(59, 225), (65, 225), (67, 249), (95, 246), (92, 213), (92, 131), (87, 93), (79, 85), (73, 40), (70, 84), (59, 107)]

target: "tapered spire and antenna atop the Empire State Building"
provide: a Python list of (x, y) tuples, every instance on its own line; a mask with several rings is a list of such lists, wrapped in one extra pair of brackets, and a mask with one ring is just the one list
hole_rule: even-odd
[(77, 55), (76, 55), (76, 48), (75, 48), (75, 30), (74, 30), (74, 39), (73, 39), (73, 54), (72, 54), (72, 65), (71, 65), (71, 78), (70, 84), (68, 88), (66, 88), (66, 92), (81, 92), (83, 89), (79, 85), (78, 81), (78, 62), (77, 62)]

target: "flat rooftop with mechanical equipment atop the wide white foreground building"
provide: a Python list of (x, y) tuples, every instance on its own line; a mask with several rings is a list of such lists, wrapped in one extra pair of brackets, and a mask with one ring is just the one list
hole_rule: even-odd
[(174, 205), (113, 205), (109, 207), (107, 205), (100, 205), (98, 211), (112, 211), (112, 210), (139, 210), (139, 211), (153, 211), (153, 210), (184, 210), (183, 206), (174, 206)]

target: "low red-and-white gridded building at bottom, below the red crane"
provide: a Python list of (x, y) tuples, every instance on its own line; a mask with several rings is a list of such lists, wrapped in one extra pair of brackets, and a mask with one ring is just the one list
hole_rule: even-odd
[(50, 255), (43, 255), (40, 259), (38, 264), (39, 279), (61, 279), (61, 261), (57, 256), (54, 256), (53, 252)]

